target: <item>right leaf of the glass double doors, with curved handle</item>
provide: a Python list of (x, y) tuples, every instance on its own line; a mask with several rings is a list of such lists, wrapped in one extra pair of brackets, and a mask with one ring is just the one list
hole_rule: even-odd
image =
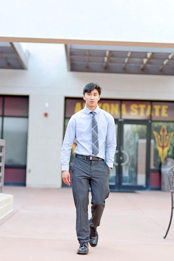
[(146, 121), (122, 122), (120, 189), (146, 188), (147, 134)]

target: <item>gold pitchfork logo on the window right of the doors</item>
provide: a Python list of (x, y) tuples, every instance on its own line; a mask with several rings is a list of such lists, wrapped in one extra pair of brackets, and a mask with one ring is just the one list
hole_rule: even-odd
[(174, 131), (167, 135), (166, 127), (163, 125), (160, 130), (160, 135), (156, 131), (153, 131), (153, 134), (157, 143), (158, 155), (161, 158), (161, 162), (164, 162), (165, 158), (167, 157), (167, 152), (170, 148), (170, 142)]

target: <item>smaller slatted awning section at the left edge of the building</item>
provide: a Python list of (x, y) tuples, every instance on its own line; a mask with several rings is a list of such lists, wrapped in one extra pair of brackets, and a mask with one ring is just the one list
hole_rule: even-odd
[(0, 69), (27, 69), (28, 57), (19, 43), (0, 42)]

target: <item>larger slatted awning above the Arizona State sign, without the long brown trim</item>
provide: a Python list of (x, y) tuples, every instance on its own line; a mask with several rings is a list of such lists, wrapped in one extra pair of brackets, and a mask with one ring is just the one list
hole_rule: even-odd
[(65, 45), (68, 70), (174, 75), (174, 48)]

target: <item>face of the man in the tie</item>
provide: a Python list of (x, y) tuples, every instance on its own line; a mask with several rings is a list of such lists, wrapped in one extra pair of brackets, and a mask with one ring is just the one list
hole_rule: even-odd
[(100, 95), (98, 90), (94, 89), (90, 93), (85, 93), (83, 98), (84, 100), (86, 100), (86, 107), (90, 110), (94, 110), (97, 107), (97, 102), (100, 99)]

